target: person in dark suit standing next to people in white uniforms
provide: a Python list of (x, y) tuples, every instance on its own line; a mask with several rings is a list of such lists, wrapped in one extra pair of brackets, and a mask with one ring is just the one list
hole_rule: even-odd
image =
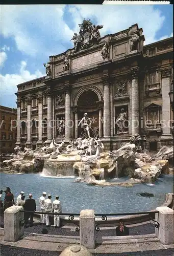
[[(32, 194), (29, 194), (29, 199), (27, 199), (24, 204), (24, 210), (28, 210), (28, 211), (36, 210), (36, 201), (32, 199)], [(33, 226), (33, 215), (34, 215), (33, 212), (24, 212), (25, 227), (29, 222), (29, 218), (30, 218), (30, 226)]]

